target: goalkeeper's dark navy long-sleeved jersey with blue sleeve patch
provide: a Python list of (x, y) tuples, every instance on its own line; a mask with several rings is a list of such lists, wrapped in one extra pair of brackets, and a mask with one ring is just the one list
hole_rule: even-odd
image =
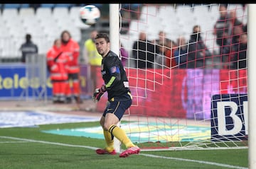
[(108, 100), (130, 92), (124, 66), (114, 52), (110, 51), (103, 57), (101, 73), (107, 88)]

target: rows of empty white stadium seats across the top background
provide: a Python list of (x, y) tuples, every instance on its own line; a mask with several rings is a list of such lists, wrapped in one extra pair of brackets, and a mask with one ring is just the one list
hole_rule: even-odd
[[(14, 40), (10, 40), (9, 44), (15, 44), (16, 46), (21, 45), (21, 40), (26, 33), (31, 33), (35, 42), (38, 42), (38, 48), (40, 53), (46, 53), (48, 47), (52, 44), (53, 40), (56, 37), (59, 37), (59, 34), (62, 30), (69, 30), (74, 39), (82, 44), (82, 41), (85, 39), (83, 30), (87, 30), (90, 26), (83, 24), (79, 18), (79, 9), (81, 6), (86, 4), (36, 4), (36, 7), (32, 7), (31, 4), (0, 4), (2, 6), (1, 13), (1, 37), (14, 37)], [(98, 8), (105, 8), (104, 4), (95, 4)], [(157, 37), (159, 30), (164, 30), (167, 33), (167, 37), (171, 40), (176, 40), (179, 35), (189, 35), (191, 33), (193, 25), (201, 25), (203, 31), (208, 31), (206, 36), (213, 37), (210, 30), (213, 30), (213, 24), (219, 17), (218, 14), (218, 5), (210, 6), (191, 6), (189, 5), (164, 5), (156, 8), (153, 5), (142, 5), (142, 4), (122, 4), (122, 8), (129, 8), (129, 10), (138, 11), (138, 18), (132, 18), (127, 23), (127, 31), (123, 33), (129, 33), (132, 40), (136, 40), (138, 33), (141, 30), (145, 30), (149, 39), (153, 40)], [(233, 4), (229, 4), (228, 8), (234, 8)], [(238, 8), (238, 7), (237, 7)], [(240, 8), (240, 7), (239, 7)], [(103, 9), (102, 9), (103, 10)], [(245, 10), (247, 10), (245, 8)], [(124, 10), (125, 11), (125, 10)], [(105, 11), (102, 11), (102, 13)], [(242, 10), (242, 5), (238, 13), (246, 12)], [(160, 20), (154, 20), (149, 16), (160, 16)], [(171, 17), (166, 20), (166, 16)], [(242, 16), (241, 14), (239, 14)], [(193, 19), (191, 17), (193, 16)], [(151, 19), (149, 19), (151, 18)], [(210, 18), (210, 19), (209, 19)], [(102, 19), (95, 28), (100, 28), (102, 30), (107, 30), (109, 26), (108, 18)], [(243, 18), (240, 18), (243, 23), (247, 21)], [(145, 26), (138, 24), (138, 22), (145, 23)], [(166, 24), (168, 22), (169, 24)], [(170, 26), (168, 26), (170, 25)], [(178, 25), (178, 26), (171, 26)], [(140, 27), (140, 28), (139, 28)], [(143, 27), (143, 28), (142, 28)], [(189, 37), (186, 37), (188, 40)], [(206, 42), (209, 46), (212, 45), (212, 41)], [(50, 44), (50, 45), (48, 45)], [(6, 47), (0, 44), (0, 49)], [(130, 46), (130, 45), (128, 45)], [(10, 51), (10, 49), (7, 49)], [(18, 52), (14, 51), (16, 49), (11, 49), (13, 54), (17, 55)], [(7, 53), (7, 52), (5, 52)], [(0, 57), (6, 57), (8, 54), (1, 54)], [(15, 57), (19, 57), (18, 56)]]

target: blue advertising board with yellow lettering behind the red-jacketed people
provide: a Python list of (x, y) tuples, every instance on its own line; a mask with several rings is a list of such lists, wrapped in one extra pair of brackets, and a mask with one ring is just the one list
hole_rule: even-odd
[[(88, 91), (87, 66), (80, 65), (81, 96)], [(52, 96), (52, 83), (49, 72), (45, 84), (39, 83), (38, 77), (26, 77), (26, 65), (23, 63), (0, 64), (0, 99), (17, 99), (20, 97), (38, 98), (42, 95)]]

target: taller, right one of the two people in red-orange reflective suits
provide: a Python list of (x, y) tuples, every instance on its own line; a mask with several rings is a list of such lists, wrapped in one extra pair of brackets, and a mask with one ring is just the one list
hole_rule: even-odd
[[(65, 54), (70, 57), (68, 62), (68, 83), (67, 83), (67, 103), (72, 102), (72, 96), (74, 96), (76, 103), (82, 103), (80, 99), (80, 66), (79, 66), (79, 54), (80, 46), (78, 42), (72, 39), (70, 32), (64, 30), (61, 35), (61, 49)], [(70, 83), (70, 80), (72, 83)], [(73, 93), (71, 91), (71, 86), (73, 87)]]

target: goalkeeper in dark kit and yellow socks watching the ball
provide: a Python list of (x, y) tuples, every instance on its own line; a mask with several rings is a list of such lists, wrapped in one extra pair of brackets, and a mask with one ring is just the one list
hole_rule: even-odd
[(107, 146), (96, 150), (97, 154), (116, 154), (114, 150), (114, 136), (127, 147), (127, 150), (119, 154), (119, 157), (127, 157), (140, 151), (128, 138), (123, 129), (117, 126), (122, 119), (125, 110), (132, 105), (132, 95), (129, 90), (129, 82), (121, 60), (110, 50), (110, 38), (105, 33), (97, 34), (95, 37), (97, 52), (102, 56), (102, 78), (105, 85), (97, 88), (93, 99), (99, 101), (107, 92), (107, 107), (100, 119)]

